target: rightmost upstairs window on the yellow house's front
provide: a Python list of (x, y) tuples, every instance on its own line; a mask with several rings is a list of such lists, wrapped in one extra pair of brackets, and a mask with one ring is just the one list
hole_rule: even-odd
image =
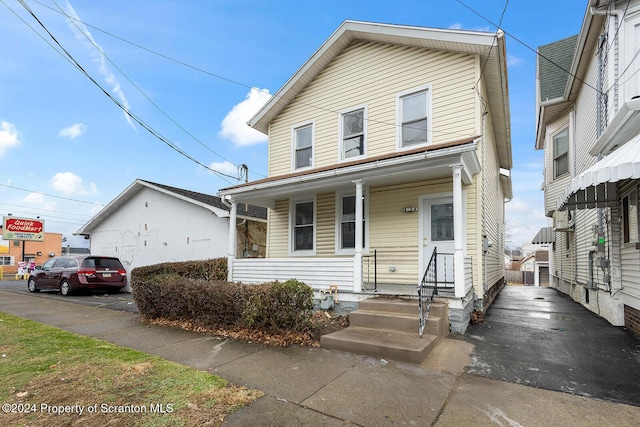
[(400, 148), (411, 148), (430, 142), (431, 91), (429, 87), (398, 97)]

